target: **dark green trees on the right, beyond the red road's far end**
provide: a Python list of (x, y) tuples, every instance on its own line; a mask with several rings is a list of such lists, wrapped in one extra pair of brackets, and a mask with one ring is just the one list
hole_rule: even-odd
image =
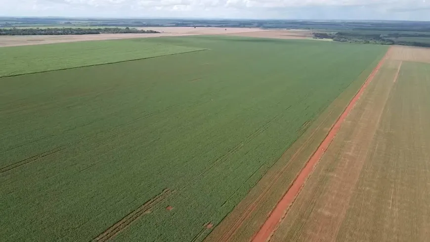
[(313, 33), (313, 36), (316, 39), (333, 39), (333, 41), (348, 43), (430, 47), (430, 31), (356, 30)]

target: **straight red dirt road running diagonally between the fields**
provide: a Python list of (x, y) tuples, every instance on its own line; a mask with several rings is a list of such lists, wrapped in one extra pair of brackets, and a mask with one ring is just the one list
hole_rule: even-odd
[(268, 240), (270, 240), (270, 237), (273, 235), (273, 233), (279, 227), (281, 220), (285, 217), (288, 208), (293, 204), (297, 195), (300, 193), (300, 191), (301, 191), (304, 183), (306, 182), (308, 176), (312, 173), (312, 170), (314, 169), (315, 165), (321, 159), (324, 152), (327, 150), (330, 143), (335, 138), (335, 136), (338, 133), (339, 129), (341, 128), (341, 125), (344, 122), (346, 116), (348, 116), (349, 112), (352, 110), (352, 108), (354, 108), (355, 104), (357, 103), (360, 96), (363, 94), (367, 85), (373, 80), (376, 73), (381, 68), (381, 66), (384, 63), (384, 61), (386, 60), (387, 55), (390, 52), (390, 50), (391, 50), (391, 48), (388, 49), (385, 56), (381, 59), (381, 61), (378, 63), (378, 65), (375, 67), (375, 69), (372, 71), (372, 73), (369, 75), (366, 82), (363, 84), (363, 86), (361, 86), (360, 90), (358, 90), (358, 92), (355, 94), (355, 96), (351, 99), (349, 104), (346, 106), (344, 112), (341, 114), (341, 116), (338, 118), (336, 123), (333, 125), (333, 127), (331, 128), (331, 130), (327, 134), (327, 137), (323, 140), (321, 145), (319, 145), (318, 149), (310, 157), (310, 159), (306, 163), (305, 167), (301, 170), (301, 172), (297, 176), (296, 180), (293, 182), (290, 189), (282, 197), (282, 199), (278, 202), (278, 204), (273, 209), (273, 211), (271, 212), (271, 214), (268, 217), (268, 219), (266, 220), (266, 222), (264, 222), (263, 226), (260, 228), (260, 230), (254, 236), (254, 238), (252, 240), (253, 242), (267, 242)]

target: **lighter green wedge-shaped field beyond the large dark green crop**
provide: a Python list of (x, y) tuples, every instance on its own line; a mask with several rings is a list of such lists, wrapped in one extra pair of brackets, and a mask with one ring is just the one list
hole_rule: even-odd
[(116, 63), (204, 50), (130, 40), (0, 48), (0, 77)]

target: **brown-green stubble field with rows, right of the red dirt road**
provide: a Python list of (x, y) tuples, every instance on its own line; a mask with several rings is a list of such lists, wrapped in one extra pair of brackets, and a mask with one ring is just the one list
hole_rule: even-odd
[(389, 50), (271, 242), (430, 241), (426, 53)]

